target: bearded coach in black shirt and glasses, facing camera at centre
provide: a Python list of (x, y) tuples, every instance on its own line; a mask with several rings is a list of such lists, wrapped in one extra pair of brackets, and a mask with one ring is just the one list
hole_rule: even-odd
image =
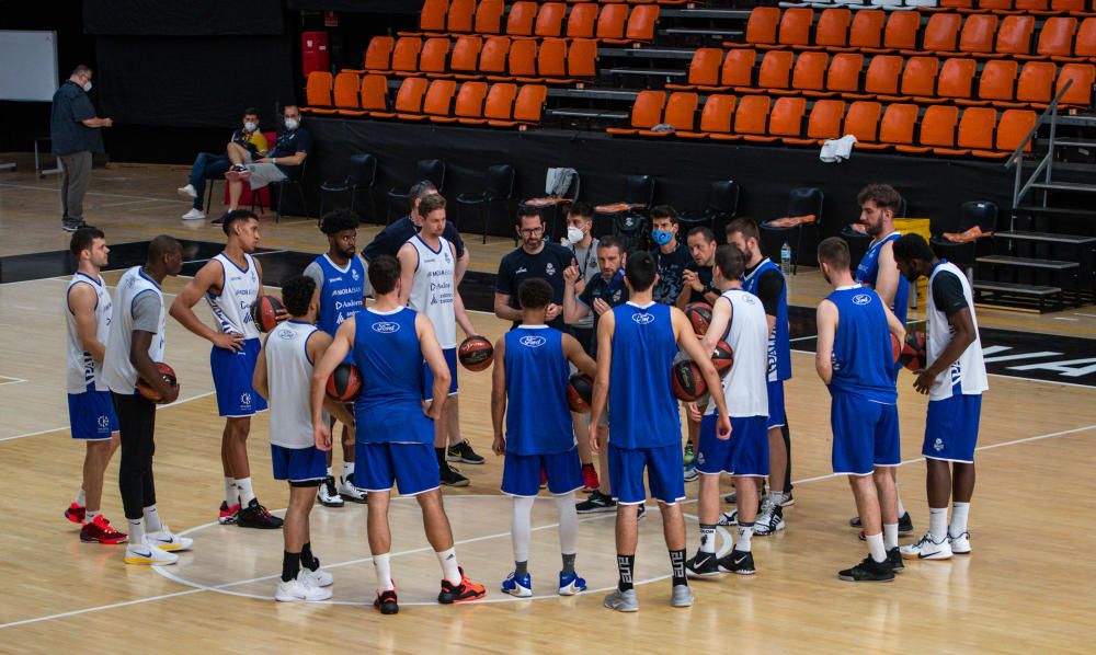
[(516, 229), (522, 246), (499, 264), (494, 315), (511, 321), (516, 328), (522, 321), (517, 287), (527, 278), (539, 277), (550, 284), (553, 291), (545, 321), (551, 328), (563, 330), (563, 271), (574, 262), (574, 256), (562, 245), (544, 240), (545, 219), (536, 209), (520, 209)]

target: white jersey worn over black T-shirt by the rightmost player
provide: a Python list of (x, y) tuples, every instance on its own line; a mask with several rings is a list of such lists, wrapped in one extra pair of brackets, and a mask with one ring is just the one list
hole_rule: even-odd
[(950, 262), (940, 263), (933, 269), (933, 274), (928, 278), (928, 309), (925, 313), (925, 318), (928, 321), (928, 334), (926, 334), (928, 342), (926, 346), (928, 351), (928, 365), (932, 366), (940, 354), (944, 353), (944, 349), (951, 343), (954, 334), (954, 329), (948, 323), (947, 315), (937, 309), (936, 302), (933, 301), (933, 279), (943, 271), (955, 274), (959, 278), (959, 284), (962, 285), (962, 295), (967, 299), (967, 307), (970, 308), (970, 319), (974, 323), (974, 343), (967, 346), (967, 349), (959, 356), (959, 359), (936, 378), (933, 387), (928, 390), (928, 400), (948, 399), (957, 392), (964, 395), (973, 395), (982, 393), (990, 388), (990, 381), (985, 375), (985, 361), (982, 358), (982, 338), (978, 333), (978, 317), (974, 315), (974, 296), (970, 290), (970, 283), (967, 281), (967, 276), (963, 275), (963, 272), (958, 266)]

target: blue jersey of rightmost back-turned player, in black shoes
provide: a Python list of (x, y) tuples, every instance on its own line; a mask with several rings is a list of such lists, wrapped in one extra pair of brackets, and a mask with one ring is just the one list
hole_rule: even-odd
[(895, 404), (898, 391), (891, 378), (894, 355), (879, 295), (853, 287), (837, 289), (826, 296), (826, 300), (837, 306), (830, 391)]

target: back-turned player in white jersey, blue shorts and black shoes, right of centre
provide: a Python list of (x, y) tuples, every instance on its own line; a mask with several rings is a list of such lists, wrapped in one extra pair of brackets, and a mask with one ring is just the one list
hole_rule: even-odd
[[(711, 323), (701, 341), (711, 353), (720, 336), (734, 353), (730, 372), (722, 380), (722, 394), (712, 393), (700, 422), (696, 470), (700, 473), (700, 549), (685, 565), (689, 576), (720, 573), (753, 575), (751, 542), (761, 483), (768, 475), (768, 321), (765, 308), (742, 288), (745, 257), (734, 245), (716, 249), (713, 280), (722, 294), (711, 308)], [(731, 416), (731, 438), (716, 434), (715, 399), (722, 395)], [(739, 494), (739, 538), (729, 555), (716, 560), (716, 521), (719, 518), (719, 476), (734, 478)]]

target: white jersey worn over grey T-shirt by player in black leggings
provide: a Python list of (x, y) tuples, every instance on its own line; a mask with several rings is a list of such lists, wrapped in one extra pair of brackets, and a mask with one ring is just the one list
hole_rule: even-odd
[(115, 393), (132, 395), (137, 387), (137, 369), (129, 363), (129, 344), (133, 341), (133, 304), (141, 294), (156, 294), (160, 303), (159, 328), (148, 347), (152, 361), (163, 361), (163, 337), (168, 312), (163, 308), (163, 292), (156, 280), (145, 275), (140, 266), (126, 271), (114, 289), (111, 311), (111, 331), (106, 337), (106, 356), (103, 358), (103, 383)]

